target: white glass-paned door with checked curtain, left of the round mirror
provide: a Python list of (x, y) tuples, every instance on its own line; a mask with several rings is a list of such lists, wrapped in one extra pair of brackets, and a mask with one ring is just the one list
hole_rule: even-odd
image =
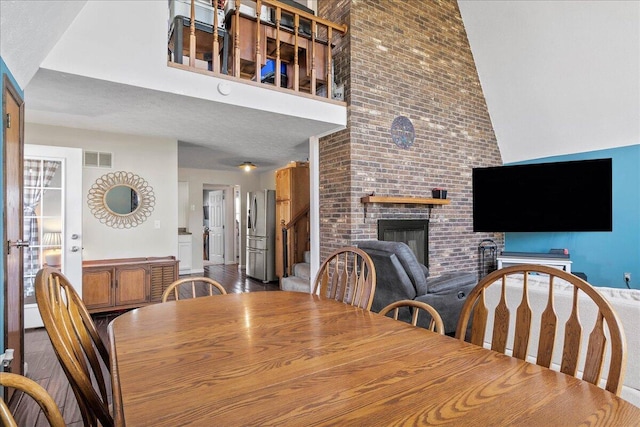
[[(41, 327), (34, 279), (59, 268), (82, 296), (82, 150), (24, 146), (24, 327)], [(28, 234), (28, 236), (27, 236)]]

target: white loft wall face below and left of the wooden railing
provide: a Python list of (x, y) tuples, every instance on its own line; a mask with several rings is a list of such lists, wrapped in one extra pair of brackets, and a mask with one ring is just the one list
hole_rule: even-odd
[[(345, 123), (340, 105), (168, 67), (168, 20), (166, 0), (92, 0), (40, 66), (287, 116)], [(229, 95), (218, 91), (222, 82), (231, 89)]]

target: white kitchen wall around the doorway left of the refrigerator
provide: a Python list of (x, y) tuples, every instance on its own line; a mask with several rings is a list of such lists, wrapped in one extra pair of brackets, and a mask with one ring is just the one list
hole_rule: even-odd
[[(203, 239), (202, 239), (202, 231), (203, 231), (203, 212), (202, 212), (202, 190), (204, 186), (240, 186), (241, 191), (241, 223), (240, 223), (240, 264), (244, 265), (245, 258), (245, 234), (244, 230), (246, 227), (246, 218), (245, 218), (245, 210), (246, 210), (246, 200), (247, 200), (247, 192), (260, 190), (260, 189), (271, 189), (275, 190), (275, 170), (269, 170), (265, 172), (258, 172), (254, 170), (252, 172), (244, 172), (238, 170), (238, 172), (227, 172), (227, 171), (214, 171), (207, 169), (178, 169), (178, 180), (181, 182), (189, 183), (189, 205), (196, 205), (195, 210), (189, 209), (189, 218), (187, 219), (188, 231), (192, 233), (193, 236), (193, 261), (192, 261), (192, 269), (193, 271), (202, 271), (202, 248), (203, 248)], [(233, 191), (229, 189), (225, 194), (227, 200), (233, 200)], [(227, 218), (233, 218), (233, 203), (227, 203)], [(227, 233), (232, 232), (230, 227), (227, 227)], [(226, 239), (229, 241), (230, 239)]]

